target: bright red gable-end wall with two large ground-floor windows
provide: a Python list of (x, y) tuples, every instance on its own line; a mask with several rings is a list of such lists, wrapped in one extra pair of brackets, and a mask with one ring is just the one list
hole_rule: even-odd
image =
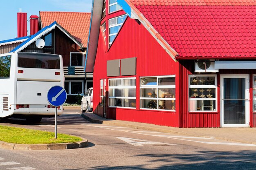
[[(176, 88), (176, 112), (141, 110), (139, 108), (139, 77), (176, 75), (176, 87), (178, 87), (179, 64), (173, 61), (142, 24), (130, 18), (124, 23), (108, 52), (105, 51), (105, 43), (102, 33), (100, 33), (97, 57), (94, 65), (94, 113), (103, 115), (103, 108), (99, 106), (100, 79), (135, 77), (107, 77), (107, 60), (129, 57), (137, 57), (137, 75), (135, 75), (137, 78), (136, 109), (107, 108), (107, 118), (179, 127), (179, 108), (177, 107), (179, 106), (178, 88)], [(108, 103), (108, 99), (106, 102)]]

